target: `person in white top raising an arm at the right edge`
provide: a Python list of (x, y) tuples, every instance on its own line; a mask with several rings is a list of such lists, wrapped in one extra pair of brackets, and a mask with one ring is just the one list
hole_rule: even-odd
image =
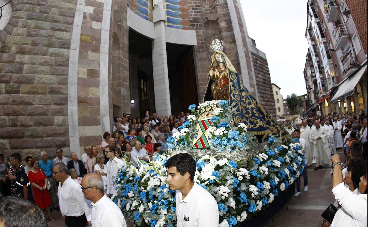
[[(342, 206), (337, 210), (335, 217), (331, 223), (331, 227), (355, 227), (367, 226), (367, 163), (361, 166), (360, 170), (364, 175), (360, 176), (359, 192), (356, 195), (343, 182), (343, 175), (341, 171), (341, 159), (339, 154), (331, 157), (332, 161), (332, 193)], [(353, 180), (354, 181), (354, 180)], [(326, 223), (325, 223), (326, 224)], [(327, 223), (328, 224), (328, 223)]]

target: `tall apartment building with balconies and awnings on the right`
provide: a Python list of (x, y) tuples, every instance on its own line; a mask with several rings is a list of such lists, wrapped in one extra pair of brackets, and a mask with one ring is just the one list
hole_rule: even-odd
[(309, 0), (306, 114), (367, 113), (367, 2)]

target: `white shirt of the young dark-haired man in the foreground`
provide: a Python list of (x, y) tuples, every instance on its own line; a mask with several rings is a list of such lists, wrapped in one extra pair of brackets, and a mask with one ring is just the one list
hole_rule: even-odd
[[(192, 189), (182, 200), (183, 194), (176, 190), (177, 227), (218, 227), (219, 209), (217, 202), (206, 189), (194, 183)], [(189, 219), (189, 221), (185, 221)]]

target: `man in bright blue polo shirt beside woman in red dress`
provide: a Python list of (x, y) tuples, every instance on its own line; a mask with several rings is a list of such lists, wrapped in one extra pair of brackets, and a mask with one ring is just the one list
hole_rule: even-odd
[(59, 210), (58, 208), (58, 199), (57, 199), (57, 182), (54, 180), (54, 178), (52, 177), (52, 171), (53, 171), (53, 164), (50, 160), (47, 159), (47, 153), (45, 151), (41, 152), (41, 160), (38, 161), (38, 166), (39, 168), (41, 168), (43, 170), (43, 172), (45, 173), (47, 180), (50, 182), (50, 189), (49, 189), (49, 193), (51, 196), (51, 200), (52, 200), (52, 207), (50, 210), (52, 210), (52, 208), (54, 208), (55, 210)]

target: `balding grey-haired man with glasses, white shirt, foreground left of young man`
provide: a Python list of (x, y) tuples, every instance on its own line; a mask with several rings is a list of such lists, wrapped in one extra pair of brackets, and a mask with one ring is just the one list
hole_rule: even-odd
[(100, 175), (90, 173), (82, 180), (84, 197), (92, 202), (91, 222), (93, 227), (127, 227), (120, 208), (103, 193)]

